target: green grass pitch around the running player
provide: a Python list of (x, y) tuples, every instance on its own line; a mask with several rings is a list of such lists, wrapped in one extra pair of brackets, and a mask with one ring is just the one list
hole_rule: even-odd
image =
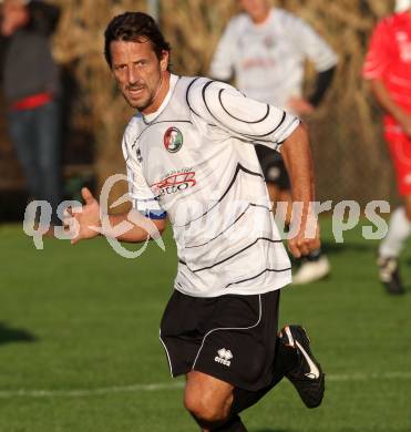
[[(325, 244), (332, 277), (285, 289), (281, 325), (301, 322), (328, 373), (323, 404), (307, 410), (282, 381), (244, 414), (251, 432), (410, 432), (411, 295), (387, 296), (377, 243), (350, 232)], [(21, 226), (0, 227), (0, 431), (197, 431), (158, 341), (176, 256), (138, 259), (104, 239), (38, 251)], [(411, 248), (402, 275), (411, 280)], [(411, 282), (409, 282), (411, 292)]]

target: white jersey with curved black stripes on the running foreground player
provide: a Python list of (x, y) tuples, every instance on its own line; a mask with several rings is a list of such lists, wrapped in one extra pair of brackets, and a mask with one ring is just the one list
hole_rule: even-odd
[(256, 295), (290, 282), (253, 144), (276, 151), (298, 124), (228, 84), (176, 75), (157, 112), (131, 120), (130, 194), (136, 209), (173, 225), (177, 290)]

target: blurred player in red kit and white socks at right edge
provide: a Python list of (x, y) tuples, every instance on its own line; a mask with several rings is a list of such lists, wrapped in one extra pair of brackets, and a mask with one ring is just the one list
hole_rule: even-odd
[(379, 247), (379, 274), (388, 292), (403, 294), (398, 259), (411, 234), (411, 0), (398, 0), (395, 13), (376, 27), (363, 76), (386, 112), (384, 136), (403, 198)]

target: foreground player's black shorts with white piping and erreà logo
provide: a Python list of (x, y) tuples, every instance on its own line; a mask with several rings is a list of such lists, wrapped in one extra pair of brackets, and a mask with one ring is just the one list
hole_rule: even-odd
[(175, 290), (161, 323), (172, 376), (196, 370), (250, 391), (268, 385), (278, 306), (279, 290), (213, 298)]

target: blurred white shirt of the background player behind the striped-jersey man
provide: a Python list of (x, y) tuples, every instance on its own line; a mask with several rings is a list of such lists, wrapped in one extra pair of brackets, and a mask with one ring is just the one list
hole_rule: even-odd
[(248, 97), (287, 109), (290, 97), (301, 96), (306, 60), (323, 72), (338, 58), (307, 22), (274, 8), (260, 24), (247, 13), (232, 18), (214, 54), (210, 75), (228, 81), (234, 74)]

